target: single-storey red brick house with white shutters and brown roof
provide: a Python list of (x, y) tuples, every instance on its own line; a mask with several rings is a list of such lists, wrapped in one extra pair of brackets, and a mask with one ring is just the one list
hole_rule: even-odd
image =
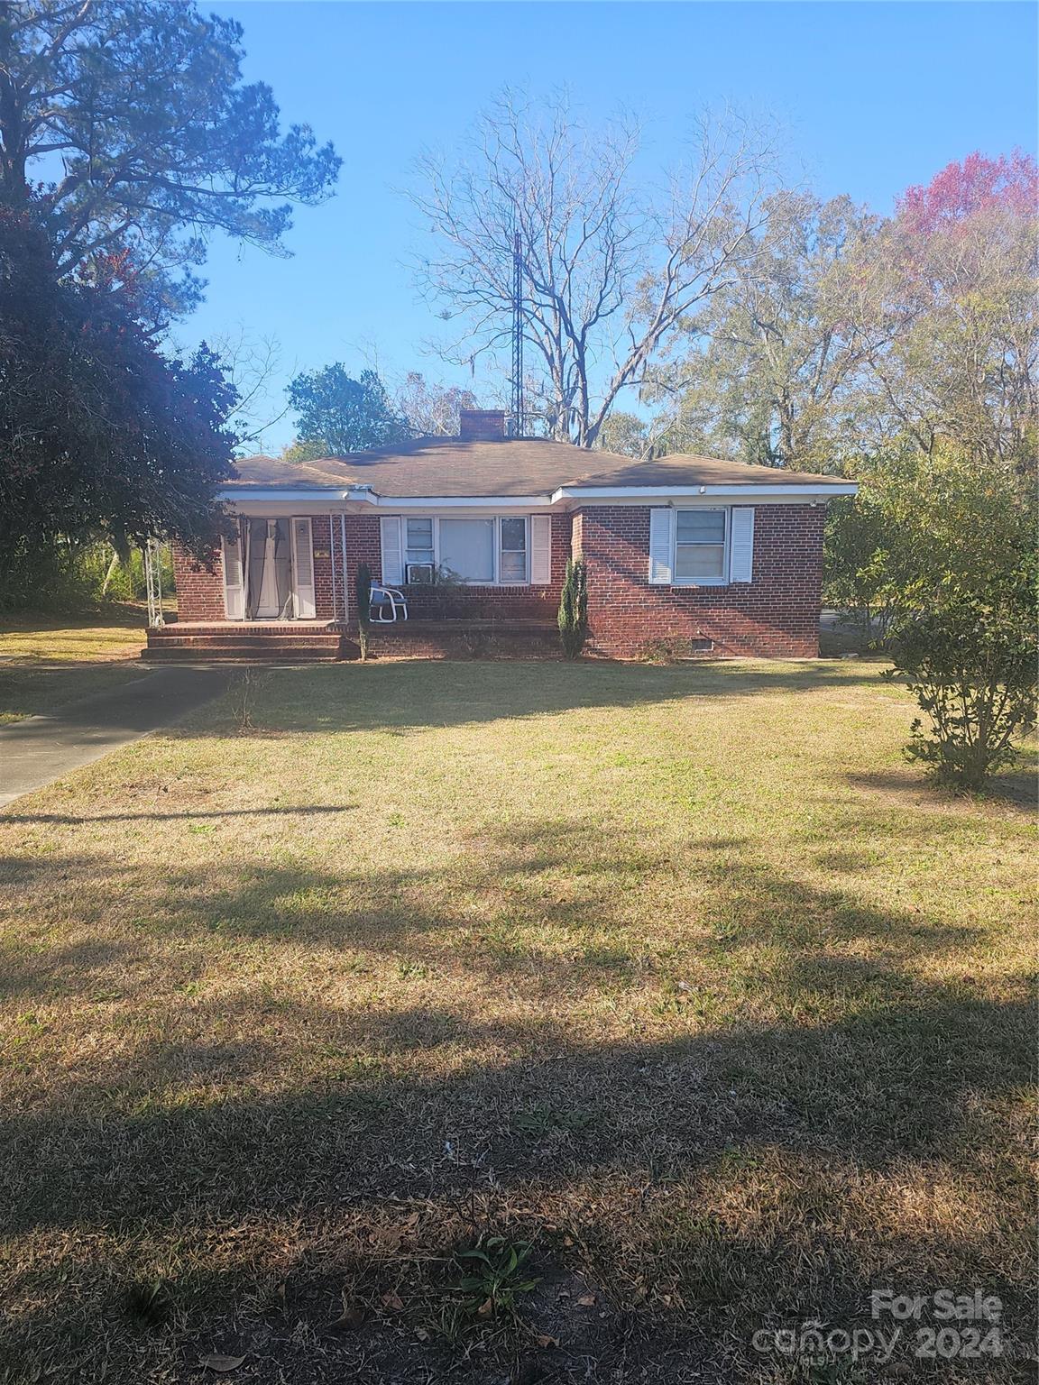
[[(356, 652), (357, 566), (407, 619), (373, 651), (553, 652), (567, 560), (587, 565), (589, 650), (817, 654), (826, 504), (841, 478), (708, 457), (633, 461), (506, 435), (497, 410), (459, 438), (290, 464), (238, 463), (234, 533), (198, 562), (175, 547), (177, 619), (157, 656)], [(389, 608), (381, 614), (389, 615)]]

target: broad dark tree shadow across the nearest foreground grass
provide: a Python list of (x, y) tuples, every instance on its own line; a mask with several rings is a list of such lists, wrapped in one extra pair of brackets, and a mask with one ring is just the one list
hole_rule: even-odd
[[(1014, 1194), (992, 1144), (1029, 1080), (1031, 1007), (913, 989), (834, 1024), (605, 1048), (538, 1018), (488, 1021), (471, 1051), (486, 1040), (515, 1057), (421, 1079), (368, 1066), (302, 1090), (251, 1090), (242, 1055), (229, 1064), (199, 1037), (175, 1068), (183, 1080), (230, 1066), (212, 1097), (173, 1082), (129, 1108), (8, 1109), (3, 1141), (19, 1152), (0, 1215), (7, 1235), (37, 1242), (17, 1276), (35, 1306), (12, 1350), (58, 1378), (101, 1360), (111, 1379), (145, 1378), (143, 1356), (190, 1379), (193, 1348), (216, 1345), (245, 1348), (265, 1381), (508, 1379), (517, 1353), (542, 1360), (535, 1301), (518, 1305), (526, 1331), (472, 1319), (442, 1335), (460, 1298), (453, 1251), (488, 1231), (532, 1240), (539, 1274), (579, 1276), (601, 1303), (590, 1332), (567, 1305), (558, 1379), (592, 1363), (592, 1378), (672, 1381), (675, 1352), (704, 1378), (752, 1379), (755, 1327), (860, 1319), (892, 1280), (978, 1280), (1020, 1330), (1022, 1245), (995, 1230)], [(290, 1018), (328, 1022), (319, 1007)], [(402, 1010), (373, 1025), (392, 1051), (436, 1019)], [(906, 1194), (932, 1198), (928, 1216), (885, 1206)], [(177, 1312), (141, 1334), (121, 1295), (155, 1274)], [(346, 1338), (323, 1331), (344, 1291), (364, 1319)]]

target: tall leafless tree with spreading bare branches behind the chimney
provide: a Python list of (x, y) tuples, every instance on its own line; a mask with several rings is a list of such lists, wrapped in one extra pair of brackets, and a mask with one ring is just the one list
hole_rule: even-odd
[(556, 438), (594, 446), (679, 324), (734, 278), (763, 224), (769, 154), (744, 123), (704, 122), (666, 193), (633, 179), (639, 130), (589, 129), (564, 100), (506, 93), (468, 159), (420, 161), (435, 240), (421, 281), (461, 324), (449, 357), (507, 350), (518, 241), (528, 366)]

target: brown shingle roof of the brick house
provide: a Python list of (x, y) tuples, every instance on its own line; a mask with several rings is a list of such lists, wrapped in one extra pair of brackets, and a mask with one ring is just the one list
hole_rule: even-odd
[(245, 457), (236, 463), (238, 479), (230, 490), (251, 486), (345, 489), (367, 485), (400, 499), (423, 496), (546, 496), (560, 486), (788, 486), (846, 485), (841, 476), (748, 467), (715, 457), (673, 456), (634, 461), (610, 452), (589, 452), (544, 439), (460, 442), (420, 438), (380, 452), (349, 457), (288, 463), (277, 457)]

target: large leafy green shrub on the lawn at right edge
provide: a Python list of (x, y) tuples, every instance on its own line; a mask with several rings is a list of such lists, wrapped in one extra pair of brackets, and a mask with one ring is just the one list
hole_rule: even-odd
[(874, 458), (859, 481), (830, 530), (831, 591), (873, 620), (925, 713), (909, 758), (981, 788), (1035, 724), (1035, 488), (946, 443)]

